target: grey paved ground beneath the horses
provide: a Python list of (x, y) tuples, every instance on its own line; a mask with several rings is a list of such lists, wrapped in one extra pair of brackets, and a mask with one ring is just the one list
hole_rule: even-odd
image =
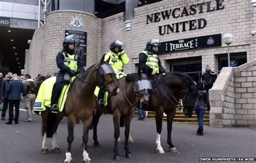
[[(24, 108), (23, 104), (21, 108)], [(19, 124), (6, 125), (6, 121), (0, 121), (0, 163), (63, 162), (67, 147), (66, 118), (60, 123), (57, 133), (61, 152), (42, 155), (41, 116), (33, 115), (32, 123), (23, 122), (25, 117), (25, 111), (21, 110)], [(169, 147), (166, 143), (166, 128), (166, 123), (164, 123), (161, 143), (165, 151)], [(256, 129), (253, 127), (204, 126), (204, 136), (196, 136), (196, 130), (197, 125), (174, 123), (172, 140), (179, 152), (166, 152), (160, 155), (155, 152), (156, 124), (154, 120), (137, 121), (135, 117), (131, 124), (131, 136), (135, 143), (130, 144), (133, 159), (124, 157), (125, 151), (122, 143), (119, 145), (119, 153), (123, 157), (120, 162), (200, 162), (200, 157), (256, 157)], [(124, 140), (123, 129), (121, 133), (121, 138)], [(99, 122), (98, 139), (102, 147), (93, 147), (91, 132), (89, 137), (89, 157), (92, 161), (114, 162), (112, 160), (114, 140), (112, 116), (103, 115)], [(82, 124), (77, 124), (75, 140), (72, 144), (73, 162), (82, 162), (81, 142)]]

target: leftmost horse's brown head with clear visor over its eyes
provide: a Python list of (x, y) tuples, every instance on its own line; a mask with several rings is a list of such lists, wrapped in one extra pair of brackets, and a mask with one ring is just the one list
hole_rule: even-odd
[(100, 85), (105, 87), (110, 96), (117, 95), (119, 93), (119, 86), (117, 83), (116, 75), (112, 66), (109, 64), (110, 58), (104, 61), (105, 55), (97, 65), (98, 79), (100, 79)]

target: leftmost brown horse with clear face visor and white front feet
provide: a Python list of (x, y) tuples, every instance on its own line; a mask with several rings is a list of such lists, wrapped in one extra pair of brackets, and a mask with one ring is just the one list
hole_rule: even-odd
[(83, 162), (91, 162), (87, 153), (89, 127), (92, 122), (93, 109), (96, 106), (94, 91), (96, 86), (105, 87), (110, 95), (117, 95), (119, 88), (112, 67), (104, 62), (104, 56), (96, 65), (76, 77), (70, 86), (63, 112), (51, 113), (47, 108), (42, 112), (42, 134), (44, 136), (42, 153), (48, 153), (46, 137), (52, 137), (52, 151), (59, 152), (56, 142), (56, 130), (64, 116), (68, 117), (68, 150), (64, 162), (72, 162), (71, 144), (74, 139), (73, 129), (78, 119), (83, 121)]

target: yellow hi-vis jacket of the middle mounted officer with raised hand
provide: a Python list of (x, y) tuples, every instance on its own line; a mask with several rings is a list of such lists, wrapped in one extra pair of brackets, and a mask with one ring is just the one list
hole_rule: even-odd
[(118, 54), (111, 51), (105, 53), (104, 61), (110, 58), (109, 64), (112, 66), (114, 73), (116, 73), (117, 79), (125, 76), (123, 72), (123, 66), (129, 63), (129, 58), (127, 57), (124, 51), (119, 52)]

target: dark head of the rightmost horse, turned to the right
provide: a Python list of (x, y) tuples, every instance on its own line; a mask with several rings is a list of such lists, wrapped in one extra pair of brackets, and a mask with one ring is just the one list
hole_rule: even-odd
[(184, 115), (188, 118), (192, 117), (194, 106), (198, 100), (198, 90), (196, 84), (192, 82), (188, 89), (186, 90), (185, 95), (182, 98), (183, 101), (183, 112)]

